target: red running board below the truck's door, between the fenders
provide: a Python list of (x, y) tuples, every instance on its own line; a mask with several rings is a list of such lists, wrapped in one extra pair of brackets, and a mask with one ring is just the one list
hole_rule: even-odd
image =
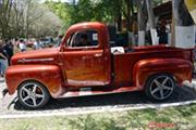
[(86, 95), (100, 95), (100, 94), (112, 94), (122, 92), (139, 91), (137, 87), (122, 87), (113, 90), (91, 90), (91, 88), (81, 88), (79, 91), (68, 91), (60, 98), (74, 98), (74, 96), (86, 96)]

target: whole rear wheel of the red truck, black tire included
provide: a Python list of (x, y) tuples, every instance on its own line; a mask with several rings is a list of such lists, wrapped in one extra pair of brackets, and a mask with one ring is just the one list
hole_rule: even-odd
[(172, 75), (157, 74), (147, 79), (145, 93), (152, 101), (164, 101), (173, 94), (175, 86)]

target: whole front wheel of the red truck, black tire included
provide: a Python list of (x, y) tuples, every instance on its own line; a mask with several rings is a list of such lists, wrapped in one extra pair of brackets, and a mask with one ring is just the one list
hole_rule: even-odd
[(19, 86), (17, 98), (25, 108), (36, 109), (48, 103), (50, 93), (48, 89), (38, 81), (24, 81)]

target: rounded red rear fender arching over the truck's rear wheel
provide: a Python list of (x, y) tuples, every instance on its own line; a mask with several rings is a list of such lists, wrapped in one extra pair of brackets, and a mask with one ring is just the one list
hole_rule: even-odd
[(176, 82), (192, 80), (193, 64), (182, 58), (148, 58), (137, 62), (133, 70), (133, 80), (136, 87), (144, 89), (146, 80), (160, 73), (167, 73), (174, 76)]

